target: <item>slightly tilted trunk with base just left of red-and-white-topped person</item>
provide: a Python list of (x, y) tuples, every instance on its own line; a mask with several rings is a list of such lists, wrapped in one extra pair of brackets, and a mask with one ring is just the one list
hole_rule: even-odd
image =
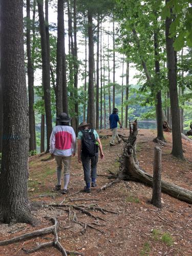
[(46, 27), (44, 19), (44, 10), (41, 0), (37, 0), (39, 13), (39, 30), (41, 39), (41, 57), (42, 57), (42, 84), (44, 87), (46, 127), (47, 127), (47, 150), (49, 152), (49, 142), (52, 133), (52, 117), (51, 117), (51, 87), (50, 87), (50, 62), (48, 54), (48, 44), (46, 36)]

